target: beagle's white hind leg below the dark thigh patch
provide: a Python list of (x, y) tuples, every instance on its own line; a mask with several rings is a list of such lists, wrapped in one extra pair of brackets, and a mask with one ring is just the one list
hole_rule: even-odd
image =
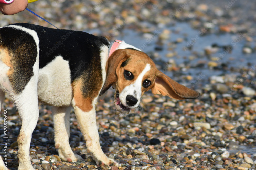
[(13, 96), (22, 120), (18, 141), (19, 170), (34, 169), (30, 162), (29, 147), (32, 132), (38, 120), (37, 78), (31, 77), (24, 90)]

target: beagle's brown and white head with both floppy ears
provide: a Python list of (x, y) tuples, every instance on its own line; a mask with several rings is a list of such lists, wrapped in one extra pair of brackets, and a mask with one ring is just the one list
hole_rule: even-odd
[(115, 88), (116, 109), (127, 114), (140, 104), (141, 96), (151, 89), (174, 99), (194, 99), (200, 93), (191, 90), (159, 71), (144, 52), (135, 49), (118, 49), (109, 57), (106, 81), (100, 92)]

